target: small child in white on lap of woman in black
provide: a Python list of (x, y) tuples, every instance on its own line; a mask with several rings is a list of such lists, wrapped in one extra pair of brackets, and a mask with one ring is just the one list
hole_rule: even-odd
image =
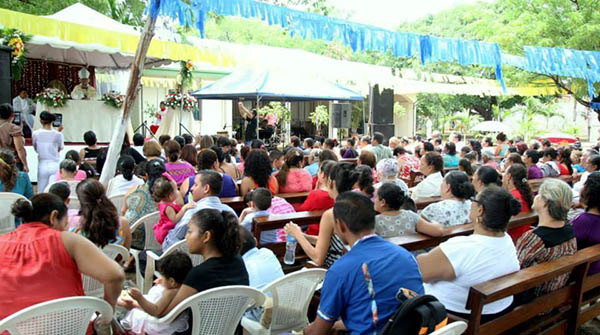
[(186, 331), (188, 314), (181, 313), (171, 323), (150, 321), (151, 316), (158, 317), (175, 298), (183, 280), (192, 269), (192, 260), (182, 252), (176, 251), (158, 264), (160, 277), (148, 294), (142, 295), (140, 290), (132, 288), (123, 292), (117, 304), (130, 310), (121, 320), (127, 330), (135, 334), (162, 335)]

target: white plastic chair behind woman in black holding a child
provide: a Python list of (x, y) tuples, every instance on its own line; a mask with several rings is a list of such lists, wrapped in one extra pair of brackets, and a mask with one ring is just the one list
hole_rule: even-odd
[(246, 310), (261, 306), (265, 295), (248, 286), (224, 286), (194, 294), (155, 322), (173, 322), (179, 314), (192, 311), (191, 334), (233, 335)]

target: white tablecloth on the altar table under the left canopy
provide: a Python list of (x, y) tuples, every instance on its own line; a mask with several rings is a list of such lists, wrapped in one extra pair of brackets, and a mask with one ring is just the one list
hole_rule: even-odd
[[(108, 143), (117, 121), (121, 119), (121, 110), (97, 100), (69, 100), (64, 107), (47, 107), (42, 103), (36, 106), (34, 130), (41, 128), (40, 113), (49, 111), (63, 115), (63, 134), (65, 142), (83, 142), (83, 134), (88, 130), (96, 133), (98, 142)], [(127, 126), (129, 140), (132, 140), (131, 121)]]

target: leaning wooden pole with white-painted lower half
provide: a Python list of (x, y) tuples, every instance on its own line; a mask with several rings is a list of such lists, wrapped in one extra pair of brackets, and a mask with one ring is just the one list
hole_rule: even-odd
[[(159, 1), (159, 0), (157, 0)], [(135, 58), (131, 64), (131, 73), (129, 74), (129, 84), (127, 85), (127, 93), (125, 95), (125, 101), (123, 102), (123, 114), (121, 120), (115, 125), (113, 131), (112, 140), (108, 146), (108, 154), (106, 155), (106, 162), (102, 168), (102, 175), (100, 176), (100, 182), (104, 186), (108, 185), (108, 181), (115, 175), (117, 167), (117, 160), (121, 153), (121, 147), (123, 146), (123, 140), (125, 137), (125, 131), (127, 129), (127, 123), (131, 114), (131, 108), (135, 103), (138, 94), (138, 86), (142, 79), (142, 70), (144, 69), (144, 63), (146, 62), (146, 54), (148, 53), (148, 47), (154, 36), (154, 26), (156, 25), (156, 17), (152, 18), (152, 15), (148, 15), (146, 24), (144, 25), (144, 31), (138, 42), (138, 48), (135, 53)]]

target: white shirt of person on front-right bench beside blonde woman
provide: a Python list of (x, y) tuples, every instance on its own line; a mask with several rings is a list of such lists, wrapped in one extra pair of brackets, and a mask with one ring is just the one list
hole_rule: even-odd
[[(459, 236), (440, 244), (440, 249), (454, 269), (456, 279), (424, 283), (426, 294), (431, 294), (447, 310), (469, 314), (465, 309), (471, 286), (519, 271), (517, 250), (508, 234), (491, 237), (480, 234)], [(502, 257), (498, 257), (502, 255)], [(512, 303), (507, 297), (483, 306), (483, 314), (503, 311)]]

